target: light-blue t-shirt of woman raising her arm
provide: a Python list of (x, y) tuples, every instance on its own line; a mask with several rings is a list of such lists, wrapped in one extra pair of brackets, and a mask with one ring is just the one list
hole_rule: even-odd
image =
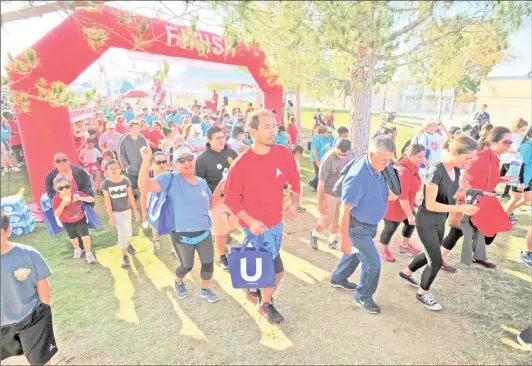
[(172, 180), (172, 188), (168, 198), (174, 214), (174, 230), (176, 232), (194, 232), (210, 230), (212, 221), (209, 206), (212, 193), (207, 182), (199, 177), (198, 184), (191, 184), (179, 173), (168, 172), (155, 177), (161, 190), (168, 190)]

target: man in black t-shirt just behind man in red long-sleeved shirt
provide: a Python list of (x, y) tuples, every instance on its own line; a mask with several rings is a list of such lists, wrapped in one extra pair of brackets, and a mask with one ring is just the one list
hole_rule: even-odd
[[(205, 179), (209, 189), (214, 193), (224, 179), (224, 171), (229, 170), (233, 160), (237, 157), (237, 152), (226, 145), (222, 128), (211, 127), (207, 130), (206, 150), (196, 161), (196, 176)], [(229, 239), (230, 234), (238, 228), (238, 218), (227, 208), (223, 198), (213, 206), (210, 215), (214, 242), (220, 256), (220, 267), (228, 269), (229, 263), (225, 254), (226, 242), (232, 240)]]

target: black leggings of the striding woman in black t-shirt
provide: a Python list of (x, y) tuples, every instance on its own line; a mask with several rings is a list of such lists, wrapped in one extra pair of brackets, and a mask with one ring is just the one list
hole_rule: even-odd
[(408, 265), (408, 269), (415, 272), (426, 266), (421, 275), (419, 287), (428, 291), (443, 265), (440, 246), (445, 235), (445, 221), (437, 223), (435, 226), (418, 226), (417, 233), (425, 250), (414, 257)]

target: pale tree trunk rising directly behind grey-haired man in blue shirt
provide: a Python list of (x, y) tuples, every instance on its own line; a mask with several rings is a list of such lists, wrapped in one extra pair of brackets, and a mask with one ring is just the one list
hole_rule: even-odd
[(360, 49), (357, 65), (351, 71), (351, 126), (349, 136), (356, 155), (368, 151), (371, 124), (374, 55)]

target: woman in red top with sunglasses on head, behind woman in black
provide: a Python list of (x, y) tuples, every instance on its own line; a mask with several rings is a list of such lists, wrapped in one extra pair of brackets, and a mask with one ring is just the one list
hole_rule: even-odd
[[(460, 184), (463, 188), (473, 188), (484, 192), (493, 192), (499, 182), (506, 182), (505, 177), (500, 175), (499, 156), (504, 154), (512, 146), (512, 133), (503, 126), (493, 128), (488, 134), (480, 139), (480, 151), (476, 158), (462, 171)], [(447, 261), (447, 255), (464, 235), (461, 227), (452, 227), (443, 239), (441, 254), (443, 258), (442, 270), (454, 273), (456, 268)], [(486, 237), (486, 245), (493, 242), (495, 237)], [(485, 246), (478, 247), (473, 256), (473, 264), (488, 269), (495, 269), (497, 265), (488, 261)]]

